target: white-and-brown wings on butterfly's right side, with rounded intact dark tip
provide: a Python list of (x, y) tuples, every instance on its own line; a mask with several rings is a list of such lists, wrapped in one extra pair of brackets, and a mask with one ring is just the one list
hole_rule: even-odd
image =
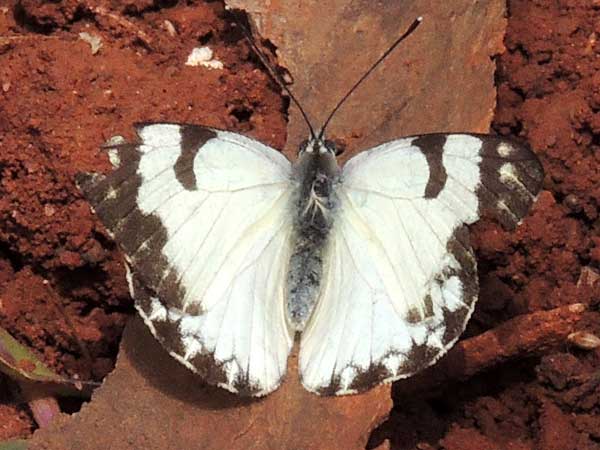
[(302, 335), (304, 386), (360, 392), (444, 355), (477, 299), (466, 225), (487, 213), (516, 226), (542, 179), (530, 150), (492, 136), (424, 135), (352, 158)]

